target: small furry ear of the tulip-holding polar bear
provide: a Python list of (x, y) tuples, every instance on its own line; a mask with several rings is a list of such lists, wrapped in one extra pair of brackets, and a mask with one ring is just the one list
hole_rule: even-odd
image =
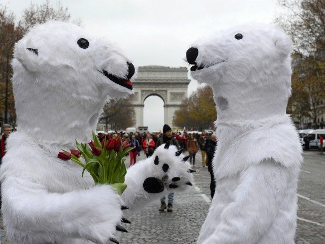
[(21, 41), (17, 42), (14, 48), (14, 58), (29, 72), (39, 70), (39, 52), (35, 47), (26, 46)]

